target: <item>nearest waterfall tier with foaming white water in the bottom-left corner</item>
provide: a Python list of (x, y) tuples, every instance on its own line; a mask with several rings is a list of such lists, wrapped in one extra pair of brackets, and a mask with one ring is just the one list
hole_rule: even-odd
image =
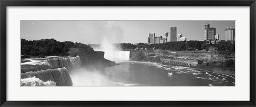
[[(36, 81), (24, 80), (25, 78), (31, 79), (33, 77), (38, 78), (39, 80), (36, 80)], [(56, 68), (56, 69), (39, 70), (37, 72), (21, 73), (21, 86), (22, 85), (26, 86), (29, 84), (32, 84), (32, 85), (38, 84), (38, 86), (40, 86), (39, 83), (33, 83), (33, 82), (42, 83), (41, 81), (46, 83), (49, 81), (54, 82), (56, 83), (56, 86), (73, 86), (71, 77), (68, 73), (68, 70), (65, 67)]]

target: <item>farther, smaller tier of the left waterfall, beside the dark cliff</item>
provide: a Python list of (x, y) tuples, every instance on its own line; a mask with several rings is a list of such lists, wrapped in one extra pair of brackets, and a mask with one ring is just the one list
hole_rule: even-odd
[(45, 60), (52, 67), (65, 67), (68, 70), (80, 68), (81, 60), (79, 56), (69, 57), (69, 58), (53, 58)]

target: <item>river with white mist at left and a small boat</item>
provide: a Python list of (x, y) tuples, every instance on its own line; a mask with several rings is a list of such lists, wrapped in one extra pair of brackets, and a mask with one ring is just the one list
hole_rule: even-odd
[[(235, 86), (235, 78), (206, 70), (150, 62), (119, 61), (102, 71), (71, 74), (74, 86)], [(168, 75), (172, 73), (173, 75)]]

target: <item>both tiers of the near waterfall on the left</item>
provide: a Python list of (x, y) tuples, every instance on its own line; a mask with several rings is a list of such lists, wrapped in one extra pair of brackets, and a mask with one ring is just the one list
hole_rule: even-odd
[(53, 69), (21, 73), (21, 86), (73, 86), (69, 72), (81, 68), (81, 60), (79, 56), (30, 59), (27, 65), (49, 65)]

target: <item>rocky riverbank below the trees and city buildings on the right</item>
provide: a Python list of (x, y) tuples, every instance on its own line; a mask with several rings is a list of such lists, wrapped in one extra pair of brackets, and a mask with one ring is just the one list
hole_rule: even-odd
[[(182, 64), (170, 64), (161, 61), (161, 58), (168, 57), (186, 57), (188, 60), (203, 60), (206, 64), (197, 64), (188, 66)], [(216, 52), (191, 52), (191, 51), (131, 51), (132, 61), (150, 61), (164, 65), (185, 66), (196, 69), (204, 69), (211, 72), (217, 72), (235, 76), (235, 56), (223, 56)], [(178, 60), (178, 59), (177, 59)]]

